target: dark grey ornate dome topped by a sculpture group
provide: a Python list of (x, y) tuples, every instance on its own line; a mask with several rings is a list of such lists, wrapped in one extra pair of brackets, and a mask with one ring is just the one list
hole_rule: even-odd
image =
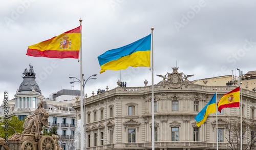
[(39, 89), (38, 84), (35, 81), (35, 72), (33, 70), (33, 66), (29, 64), (29, 71), (27, 68), (23, 72), (23, 82), (19, 85), (18, 92), (22, 91), (36, 91), (36, 92), (41, 92)]

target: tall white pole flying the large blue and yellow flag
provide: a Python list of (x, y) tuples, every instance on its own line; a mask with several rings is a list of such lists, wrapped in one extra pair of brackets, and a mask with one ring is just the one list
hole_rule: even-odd
[(152, 96), (151, 96), (151, 104), (152, 104), (152, 150), (155, 150), (155, 116), (154, 116), (154, 59), (153, 59), (153, 30), (154, 27), (151, 28), (151, 36), (152, 36), (152, 63), (151, 63), (151, 71), (152, 71), (152, 86), (151, 86), (151, 90), (152, 90)]

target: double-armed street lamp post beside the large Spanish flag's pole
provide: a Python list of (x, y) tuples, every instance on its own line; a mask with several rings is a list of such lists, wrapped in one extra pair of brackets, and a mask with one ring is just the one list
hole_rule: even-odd
[[(83, 99), (84, 99), (84, 87), (86, 86), (86, 83), (87, 83), (87, 81), (89, 81), (89, 80), (91, 80), (91, 79), (97, 79), (97, 78), (91, 78), (91, 77), (95, 77), (97, 74), (93, 74), (93, 75), (91, 75), (89, 78), (87, 78), (86, 80), (85, 79), (83, 79), (83, 74), (82, 74), (82, 89), (83, 89)], [(70, 79), (72, 79), (72, 78), (75, 78), (75, 79), (77, 79), (77, 81), (71, 81), (70, 82), (70, 84), (73, 84), (74, 82), (79, 82), (79, 83), (81, 83), (81, 81), (78, 79), (78, 78), (76, 78), (76, 77), (72, 77), (72, 76), (70, 76), (69, 77)], [(86, 139), (86, 102), (85, 102), (86, 100), (84, 99), (84, 101), (83, 101), (83, 112), (84, 112), (84, 139)], [(82, 101), (80, 101), (81, 103), (82, 103)], [(82, 110), (80, 110), (81, 111), (81, 113), (83, 113), (82, 112)], [(81, 119), (82, 120), (82, 119)], [(83, 123), (83, 122), (81, 122), (81, 123)], [(82, 139), (81, 139), (82, 140)], [(84, 142), (84, 147), (85, 147), (85, 149), (86, 149), (86, 141)], [(81, 149), (82, 150), (82, 149)]]

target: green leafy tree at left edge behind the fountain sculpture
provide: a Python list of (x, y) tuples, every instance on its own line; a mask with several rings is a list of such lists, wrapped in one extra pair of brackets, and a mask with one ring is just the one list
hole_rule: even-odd
[[(22, 133), (24, 131), (23, 128), (24, 121), (19, 120), (18, 117), (12, 116), (9, 119), (4, 119), (0, 121), (0, 125), (7, 125), (11, 126), (15, 129), (17, 133)], [(0, 127), (0, 137), (6, 138), (6, 134), (8, 135), (8, 138), (15, 134), (15, 131), (11, 127)]]

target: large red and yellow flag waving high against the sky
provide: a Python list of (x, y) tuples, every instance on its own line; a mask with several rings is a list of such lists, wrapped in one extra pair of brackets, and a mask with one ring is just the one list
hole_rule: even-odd
[(28, 47), (27, 55), (49, 58), (78, 58), (80, 26)]

